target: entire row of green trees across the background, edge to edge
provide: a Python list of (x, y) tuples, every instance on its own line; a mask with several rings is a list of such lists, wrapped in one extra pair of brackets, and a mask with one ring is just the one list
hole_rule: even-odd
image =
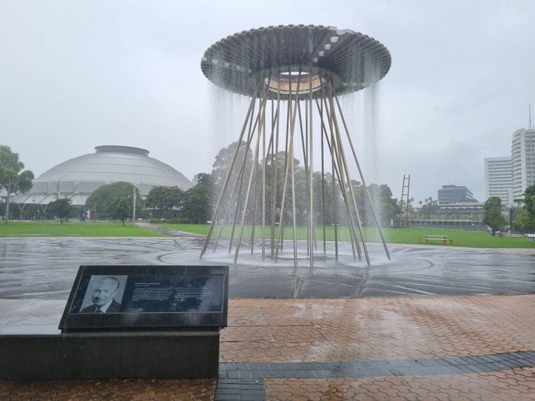
[[(113, 184), (105, 184), (93, 191), (93, 194), (88, 197), (86, 205), (82, 210), (83, 217), (92, 218), (109, 218), (122, 221), (123, 224), (127, 219), (134, 215), (134, 207), (136, 216), (144, 219), (176, 219), (177, 222), (185, 223), (206, 223), (212, 218), (212, 208), (215, 205), (219, 193), (226, 180), (226, 172), (230, 168), (231, 160), (238, 143), (231, 143), (226, 148), (219, 150), (212, 165), (211, 173), (200, 173), (196, 175), (196, 184), (183, 190), (178, 187), (164, 187), (158, 186), (150, 189), (145, 199), (141, 198), (139, 189), (129, 182), (115, 182)], [(240, 174), (230, 178), (229, 187), (238, 188), (234, 191), (234, 196), (240, 194), (240, 186), (242, 192), (244, 182), (241, 177), (248, 176), (251, 168), (253, 168), (252, 152), (248, 146), (240, 146), (240, 153), (237, 159), (244, 160)], [(256, 166), (256, 175), (254, 176), (253, 185), (261, 185), (262, 179), (265, 180), (265, 193), (263, 196), (270, 199), (272, 196), (272, 188), (275, 186), (281, 188), (284, 186), (283, 174), (277, 174), (277, 171), (284, 171), (284, 165), (287, 162), (287, 155), (284, 151), (277, 152), (277, 155), (265, 161), (265, 172), (261, 174), (264, 161), (259, 162)], [(295, 215), (297, 223), (304, 224), (307, 222), (307, 185), (308, 173), (306, 168), (300, 166), (300, 160), (294, 159), (293, 165), (295, 169)], [(273, 181), (274, 180), (276, 181)], [(240, 181), (241, 182), (238, 182)], [(9, 214), (9, 199), (11, 194), (24, 193), (31, 189), (33, 181), (33, 173), (29, 170), (24, 170), (24, 164), (20, 162), (19, 155), (13, 152), (8, 146), (0, 146), (0, 189), (6, 189), (8, 196), (6, 202), (0, 203), (0, 214), (5, 215), (5, 223), (8, 223)], [(313, 219), (315, 223), (334, 223), (334, 210), (343, 210), (343, 185), (346, 187), (348, 183), (341, 184), (336, 177), (331, 173), (322, 173), (320, 171), (313, 172)], [(357, 206), (362, 211), (362, 218), (364, 225), (372, 225), (371, 213), (369, 209), (372, 205), (367, 201), (365, 190), (362, 183), (352, 180), (350, 182), (352, 190), (357, 198)], [(389, 225), (395, 221), (402, 213), (408, 210), (409, 213), (414, 212), (416, 207), (414, 205), (414, 198), (411, 198), (407, 207), (404, 201), (392, 197), (392, 192), (385, 184), (370, 184), (367, 191), (371, 195), (380, 224), (382, 226)], [(281, 210), (292, 212), (290, 205), (290, 197), (285, 199), (284, 207), (282, 207), (282, 191), (275, 191), (273, 196), (277, 196), (275, 210), (266, 210), (266, 218), (270, 219), (271, 214), (275, 213), (275, 217), (279, 217)], [(223, 194), (223, 202), (234, 202), (234, 206), (243, 201), (243, 196), (232, 198), (232, 194)], [(134, 205), (135, 200), (135, 205)], [(522, 233), (530, 233), (535, 231), (535, 184), (527, 187), (524, 192), (523, 207), (513, 210), (511, 222), (515, 230), (520, 230)], [(251, 205), (254, 204), (251, 203)], [(251, 206), (252, 207), (252, 206)], [(425, 201), (419, 201), (419, 214), (429, 215), (437, 213), (439, 208), (438, 202), (433, 200), (430, 196)], [(236, 209), (237, 210), (237, 209)], [(38, 205), (27, 205), (25, 214), (33, 215), (33, 217), (45, 214), (40, 210)], [(79, 210), (72, 207), (71, 201), (68, 198), (59, 198), (56, 201), (49, 203), (47, 207), (47, 217), (56, 216), (61, 223), (64, 220), (77, 216)], [(228, 215), (232, 219), (232, 213)], [(254, 213), (248, 213), (248, 219), (258, 219), (254, 217)], [(490, 197), (484, 204), (483, 222), (493, 229), (493, 233), (501, 230), (506, 226), (509, 219), (502, 212), (502, 201), (498, 197)], [(337, 218), (337, 223), (345, 223), (343, 216)]]

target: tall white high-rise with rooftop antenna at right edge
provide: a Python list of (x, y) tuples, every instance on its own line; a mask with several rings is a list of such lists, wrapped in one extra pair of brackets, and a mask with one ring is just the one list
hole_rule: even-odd
[(528, 128), (513, 132), (511, 145), (511, 162), (513, 166), (513, 200), (522, 202), (524, 191), (535, 184), (535, 129), (529, 119)]

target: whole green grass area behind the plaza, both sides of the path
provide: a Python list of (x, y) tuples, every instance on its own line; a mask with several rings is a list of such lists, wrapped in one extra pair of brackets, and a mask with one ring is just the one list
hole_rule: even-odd
[[(187, 233), (197, 233), (206, 235), (208, 233), (208, 224), (160, 224), (165, 228), (185, 231)], [(217, 236), (220, 226), (215, 227), (212, 236)], [(230, 237), (231, 226), (222, 227), (222, 236)], [(243, 239), (251, 237), (251, 226), (245, 226)], [(533, 248), (535, 243), (524, 237), (493, 237), (490, 233), (481, 231), (453, 230), (448, 228), (383, 228), (383, 235), (389, 244), (419, 244), (419, 238), (427, 235), (447, 235), (453, 239), (453, 244), (440, 246), (467, 246), (470, 248)], [(275, 233), (279, 235), (278, 227)], [(350, 239), (347, 227), (339, 227), (337, 235), (340, 241)], [(358, 234), (360, 235), (360, 234)], [(68, 221), (60, 224), (56, 221), (10, 221), (9, 224), (0, 222), (0, 237), (165, 237), (164, 234), (154, 233), (141, 227), (113, 222), (95, 222), (95, 221)], [(234, 237), (238, 236), (236, 230)], [(255, 237), (261, 238), (261, 230), (258, 226), (255, 228)], [(266, 237), (270, 237), (270, 230), (267, 230)], [(327, 227), (325, 231), (327, 240), (334, 239), (334, 227)], [(377, 229), (365, 229), (364, 237), (367, 242), (380, 242), (380, 236)], [(293, 230), (286, 228), (284, 238), (292, 239)], [(307, 238), (307, 228), (300, 227), (297, 229), (297, 238)], [(323, 229), (316, 229), (316, 240), (323, 239)]]

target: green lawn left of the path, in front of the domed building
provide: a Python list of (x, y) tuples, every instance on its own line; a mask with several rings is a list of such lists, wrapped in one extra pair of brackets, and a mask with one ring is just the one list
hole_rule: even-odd
[(109, 221), (0, 221), (0, 237), (166, 237), (132, 224)]

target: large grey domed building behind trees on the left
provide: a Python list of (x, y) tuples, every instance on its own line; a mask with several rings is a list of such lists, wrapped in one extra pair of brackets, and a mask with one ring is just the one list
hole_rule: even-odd
[(33, 181), (29, 194), (13, 197), (13, 203), (48, 205), (58, 194), (73, 206), (83, 206), (101, 185), (125, 181), (146, 196), (157, 186), (189, 189), (192, 182), (173, 167), (148, 157), (148, 150), (131, 146), (97, 146), (95, 153), (58, 164)]

